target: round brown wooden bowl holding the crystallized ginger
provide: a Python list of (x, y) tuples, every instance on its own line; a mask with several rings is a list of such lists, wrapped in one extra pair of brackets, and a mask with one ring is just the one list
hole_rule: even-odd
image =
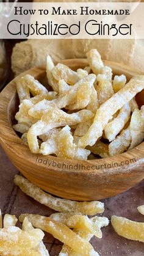
[[(87, 65), (85, 59), (62, 62), (73, 70)], [(112, 68), (114, 75), (124, 74), (128, 80), (140, 74), (139, 71), (121, 64), (107, 61), (105, 64)], [(22, 75), (26, 74), (45, 84), (45, 67), (33, 68)], [(144, 142), (126, 153), (87, 161), (31, 153), (12, 128), (15, 113), (18, 111), (15, 81), (20, 76), (13, 79), (0, 95), (0, 142), (12, 163), (27, 179), (59, 197), (96, 200), (126, 191), (144, 178)]]

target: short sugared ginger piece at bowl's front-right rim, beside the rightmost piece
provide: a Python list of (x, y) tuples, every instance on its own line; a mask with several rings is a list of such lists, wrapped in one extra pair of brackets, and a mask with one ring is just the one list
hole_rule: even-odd
[(119, 136), (117, 136), (109, 144), (109, 155), (115, 156), (123, 153), (127, 150), (131, 144), (131, 132), (129, 127), (126, 130), (123, 130)]

